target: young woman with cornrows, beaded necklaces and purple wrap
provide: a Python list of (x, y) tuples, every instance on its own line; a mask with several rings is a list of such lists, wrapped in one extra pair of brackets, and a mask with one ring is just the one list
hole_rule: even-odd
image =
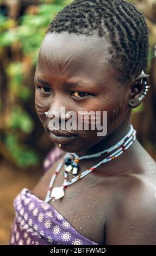
[[(75, 0), (49, 24), (35, 106), (57, 148), (35, 188), (14, 200), (11, 245), (156, 244), (155, 161), (130, 120), (149, 88), (147, 57), (145, 17), (127, 1)], [(80, 111), (107, 111), (107, 134), (61, 129), (69, 111), (76, 120)]]

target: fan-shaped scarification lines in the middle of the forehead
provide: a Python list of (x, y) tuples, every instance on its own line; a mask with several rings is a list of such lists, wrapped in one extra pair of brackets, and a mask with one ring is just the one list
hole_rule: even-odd
[(62, 58), (62, 54), (60, 53), (59, 56), (59, 63), (57, 65), (57, 58), (55, 57), (55, 53), (53, 53), (53, 57), (51, 58), (51, 60), (49, 60), (48, 54), (46, 53), (46, 63), (47, 66), (49, 68), (49, 71), (52, 72), (52, 70), (54, 72), (59, 72), (59, 75), (61, 75), (61, 73), (65, 72), (68, 68), (68, 66), (71, 64), (73, 58), (72, 58), (72, 54), (71, 56), (69, 56), (65, 62)]

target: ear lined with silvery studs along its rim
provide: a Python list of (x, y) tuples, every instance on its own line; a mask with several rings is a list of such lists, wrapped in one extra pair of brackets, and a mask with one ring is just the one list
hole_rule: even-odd
[(138, 107), (146, 96), (149, 86), (149, 75), (146, 75), (143, 71), (139, 76), (136, 76), (132, 83), (130, 83), (130, 96), (128, 100), (128, 106), (130, 108)]

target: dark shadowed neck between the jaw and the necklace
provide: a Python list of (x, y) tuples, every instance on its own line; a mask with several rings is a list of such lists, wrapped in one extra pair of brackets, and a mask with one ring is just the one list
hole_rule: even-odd
[(117, 142), (119, 142), (130, 130), (130, 115), (120, 124), (113, 132), (110, 132), (107, 137), (105, 137), (101, 142), (97, 143), (95, 146), (91, 147), (86, 151), (78, 152), (79, 156), (96, 154), (100, 151), (113, 147)]

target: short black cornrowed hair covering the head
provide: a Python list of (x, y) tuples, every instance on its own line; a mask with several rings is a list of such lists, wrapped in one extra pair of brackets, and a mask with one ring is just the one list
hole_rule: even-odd
[(148, 27), (145, 16), (124, 0), (74, 0), (64, 7), (47, 28), (47, 33), (107, 35), (112, 48), (110, 65), (118, 81), (127, 83), (148, 64)]

